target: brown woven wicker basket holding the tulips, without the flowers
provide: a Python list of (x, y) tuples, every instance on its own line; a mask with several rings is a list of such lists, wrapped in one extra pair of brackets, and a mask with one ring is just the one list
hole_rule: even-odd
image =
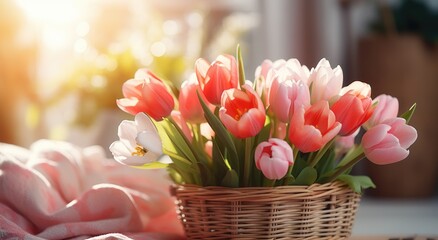
[(344, 239), (360, 195), (335, 182), (275, 188), (174, 186), (188, 239)]

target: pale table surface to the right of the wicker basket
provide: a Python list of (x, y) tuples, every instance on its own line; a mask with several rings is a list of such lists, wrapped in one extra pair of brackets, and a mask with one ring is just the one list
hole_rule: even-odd
[(352, 236), (353, 240), (438, 240), (438, 196), (411, 200), (364, 197)]

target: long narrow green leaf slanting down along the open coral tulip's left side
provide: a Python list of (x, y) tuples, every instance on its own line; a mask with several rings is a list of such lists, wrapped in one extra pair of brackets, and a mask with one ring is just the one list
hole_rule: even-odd
[(225, 128), (225, 126), (222, 124), (222, 122), (219, 120), (216, 115), (214, 115), (210, 109), (205, 104), (204, 100), (201, 98), (198, 94), (199, 102), (201, 103), (202, 109), (204, 110), (205, 119), (207, 119), (207, 122), (210, 124), (211, 128), (215, 132), (215, 139), (216, 142), (220, 145), (220, 150), (223, 154), (225, 150), (227, 150), (227, 158), (231, 165), (231, 167), (239, 172), (239, 157), (237, 155), (236, 146), (234, 145), (233, 138)]

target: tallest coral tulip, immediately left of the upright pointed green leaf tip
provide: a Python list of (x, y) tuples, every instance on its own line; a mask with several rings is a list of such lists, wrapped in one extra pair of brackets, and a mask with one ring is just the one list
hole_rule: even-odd
[(239, 84), (236, 59), (231, 55), (220, 55), (211, 65), (200, 58), (195, 72), (205, 97), (214, 105), (221, 103), (222, 92)]

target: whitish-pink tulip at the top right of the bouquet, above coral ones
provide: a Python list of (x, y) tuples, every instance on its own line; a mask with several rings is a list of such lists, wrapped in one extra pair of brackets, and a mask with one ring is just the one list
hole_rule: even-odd
[(312, 104), (321, 100), (330, 101), (339, 95), (342, 88), (343, 74), (340, 66), (332, 69), (325, 58), (319, 61), (311, 70), (308, 85), (311, 87), (310, 101)]

